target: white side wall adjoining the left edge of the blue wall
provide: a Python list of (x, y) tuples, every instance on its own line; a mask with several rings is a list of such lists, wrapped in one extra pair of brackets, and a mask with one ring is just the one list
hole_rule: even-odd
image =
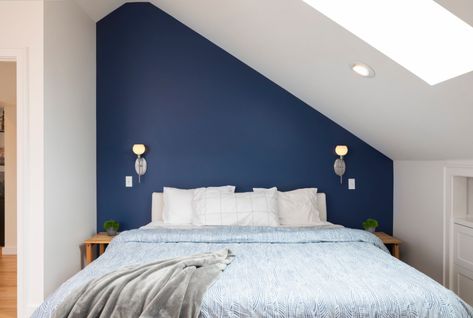
[(46, 1), (45, 295), (80, 270), (96, 229), (95, 22), (73, 1)]

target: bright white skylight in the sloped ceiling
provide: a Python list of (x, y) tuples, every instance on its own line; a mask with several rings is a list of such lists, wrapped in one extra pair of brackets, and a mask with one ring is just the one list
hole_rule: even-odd
[(473, 27), (433, 0), (303, 0), (430, 85), (473, 71)]

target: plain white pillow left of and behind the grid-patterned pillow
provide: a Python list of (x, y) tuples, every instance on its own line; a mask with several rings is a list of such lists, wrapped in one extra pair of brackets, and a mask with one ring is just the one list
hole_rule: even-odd
[[(208, 189), (209, 193), (235, 191), (234, 186), (199, 188)], [(177, 189), (164, 187), (163, 189), (163, 221), (166, 224), (182, 225), (192, 224), (192, 199), (197, 189)]]

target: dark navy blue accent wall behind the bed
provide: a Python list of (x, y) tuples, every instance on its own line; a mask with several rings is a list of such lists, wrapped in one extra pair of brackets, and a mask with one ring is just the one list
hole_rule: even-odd
[[(149, 147), (141, 184), (134, 143)], [(355, 191), (333, 172), (337, 144), (350, 148)], [(126, 4), (99, 21), (98, 229), (107, 219), (146, 224), (163, 186), (226, 184), (318, 187), (329, 221), (359, 228), (374, 217), (392, 232), (392, 160), (153, 5)]]

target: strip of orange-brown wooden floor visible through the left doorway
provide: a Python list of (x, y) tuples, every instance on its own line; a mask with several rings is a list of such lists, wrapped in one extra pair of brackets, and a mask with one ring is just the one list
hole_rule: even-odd
[(16, 256), (0, 255), (0, 318), (16, 317)]

